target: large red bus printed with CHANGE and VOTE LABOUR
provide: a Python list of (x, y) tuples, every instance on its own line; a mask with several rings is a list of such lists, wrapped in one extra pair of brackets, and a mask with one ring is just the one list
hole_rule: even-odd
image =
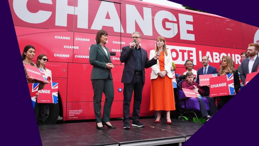
[[(248, 44), (259, 43), (258, 27), (136, 0), (9, 0), (9, 5), (20, 51), (31, 44), (36, 56), (47, 55), (53, 82), (59, 83), (59, 103), (49, 104), (45, 123), (55, 123), (58, 115), (64, 121), (95, 119), (89, 49), (96, 43), (100, 29), (109, 33), (106, 47), (116, 52), (116, 56), (111, 56), (114, 64), (111, 118), (123, 117), (124, 64), (119, 58), (121, 48), (132, 42), (132, 32), (142, 34), (141, 46), (148, 55), (155, 48), (156, 37), (166, 38), (178, 74), (186, 71), (183, 65), (186, 59), (193, 60), (195, 70), (201, 68), (205, 55), (210, 65), (218, 69), (222, 56), (231, 56), (237, 68), (241, 64), (240, 53), (246, 51)], [(154, 111), (149, 111), (150, 73), (151, 68), (146, 69), (140, 116), (154, 115)], [(132, 109), (133, 102), (131, 114)]]

